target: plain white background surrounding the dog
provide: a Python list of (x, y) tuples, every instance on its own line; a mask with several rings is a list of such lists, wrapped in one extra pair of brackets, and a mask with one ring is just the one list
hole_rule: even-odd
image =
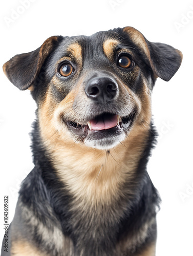
[[(176, 75), (169, 82), (158, 78), (153, 91), (153, 115), (160, 137), (148, 173), (162, 198), (157, 256), (192, 256), (193, 2), (33, 0), (28, 2), (28, 8), (21, 6), (19, 0), (1, 1), (0, 66), (15, 54), (35, 50), (52, 35), (91, 35), (125, 26), (135, 27), (149, 41), (164, 42), (183, 52), (182, 66)], [(13, 17), (15, 20), (8, 22)], [(33, 168), (29, 132), (36, 105), (29, 91), (19, 91), (3, 71), (0, 76), (3, 239), (4, 195), (9, 195), (11, 221), (19, 184)]]

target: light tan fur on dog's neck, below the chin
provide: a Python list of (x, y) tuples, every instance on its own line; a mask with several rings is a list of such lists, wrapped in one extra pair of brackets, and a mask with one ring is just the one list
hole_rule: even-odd
[[(132, 182), (145, 151), (150, 151), (151, 125), (140, 126), (111, 150), (97, 150), (80, 143), (63, 141), (57, 133), (41, 133), (40, 140), (51, 165), (77, 200), (103, 203), (118, 200), (125, 182)], [(44, 137), (42, 136), (44, 134)], [(153, 136), (154, 137), (154, 136)], [(37, 154), (38, 155), (38, 154)], [(38, 158), (36, 155), (35, 158)], [(142, 169), (145, 169), (146, 163)]]

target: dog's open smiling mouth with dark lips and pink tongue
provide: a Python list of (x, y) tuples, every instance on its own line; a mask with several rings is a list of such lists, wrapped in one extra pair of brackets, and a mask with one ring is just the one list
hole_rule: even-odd
[(72, 121), (67, 121), (66, 124), (76, 135), (87, 137), (95, 134), (96, 139), (99, 139), (128, 130), (133, 123), (134, 113), (132, 112), (125, 117), (120, 117), (118, 114), (103, 113), (88, 121), (87, 124), (78, 124)]

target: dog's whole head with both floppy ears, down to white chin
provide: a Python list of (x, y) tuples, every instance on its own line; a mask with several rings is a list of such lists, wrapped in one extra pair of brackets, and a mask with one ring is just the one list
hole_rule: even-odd
[(179, 50), (125, 27), (52, 36), (6, 62), (4, 72), (20, 90), (31, 90), (44, 136), (109, 149), (148, 129), (156, 78), (168, 81), (181, 61)]

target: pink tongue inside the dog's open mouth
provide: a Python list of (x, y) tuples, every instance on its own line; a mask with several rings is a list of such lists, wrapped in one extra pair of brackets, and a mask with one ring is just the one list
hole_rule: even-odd
[(105, 114), (90, 122), (92, 130), (107, 130), (117, 125), (118, 115)]

